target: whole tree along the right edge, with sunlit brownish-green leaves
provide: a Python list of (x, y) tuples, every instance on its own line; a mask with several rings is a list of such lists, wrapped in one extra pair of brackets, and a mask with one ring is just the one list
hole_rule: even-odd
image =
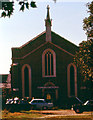
[(79, 44), (74, 63), (80, 70), (83, 85), (93, 90), (93, 1), (87, 4), (89, 17), (83, 20), (83, 29), (86, 31), (87, 41)]

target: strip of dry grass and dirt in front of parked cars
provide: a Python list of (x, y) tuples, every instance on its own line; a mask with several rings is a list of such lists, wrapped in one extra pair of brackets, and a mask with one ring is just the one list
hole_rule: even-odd
[(43, 114), (41, 111), (30, 110), (20, 112), (8, 112), (7, 110), (2, 111), (2, 120), (93, 120), (92, 115), (53, 115)]

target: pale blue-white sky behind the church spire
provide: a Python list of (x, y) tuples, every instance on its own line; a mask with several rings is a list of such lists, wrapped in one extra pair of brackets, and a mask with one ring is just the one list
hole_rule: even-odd
[(75, 45), (87, 40), (83, 19), (88, 17), (86, 3), (91, 0), (35, 0), (37, 8), (15, 10), (10, 18), (0, 18), (0, 74), (8, 74), (12, 64), (12, 47), (20, 47), (45, 31), (47, 5), (50, 6), (52, 31)]

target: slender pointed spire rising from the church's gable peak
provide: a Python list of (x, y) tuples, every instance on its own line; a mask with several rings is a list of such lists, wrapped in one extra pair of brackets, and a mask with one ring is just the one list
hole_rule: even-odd
[(51, 42), (51, 21), (50, 20), (50, 15), (49, 15), (49, 5), (47, 6), (47, 16), (45, 19), (45, 26), (46, 26), (46, 41), (50, 41)]

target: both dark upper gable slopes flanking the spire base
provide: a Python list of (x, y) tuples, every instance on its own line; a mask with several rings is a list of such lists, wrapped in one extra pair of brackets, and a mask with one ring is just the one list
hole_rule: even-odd
[[(75, 54), (78, 51), (78, 46), (69, 42), (65, 38), (59, 36), (55, 32), (51, 32), (52, 44), (59, 46), (60, 48), (66, 50), (71, 54)], [(46, 32), (42, 32), (26, 44), (18, 48), (12, 48), (12, 58), (21, 58), (26, 54), (29, 54), (31, 51), (40, 48), (43, 44), (46, 43)]]

